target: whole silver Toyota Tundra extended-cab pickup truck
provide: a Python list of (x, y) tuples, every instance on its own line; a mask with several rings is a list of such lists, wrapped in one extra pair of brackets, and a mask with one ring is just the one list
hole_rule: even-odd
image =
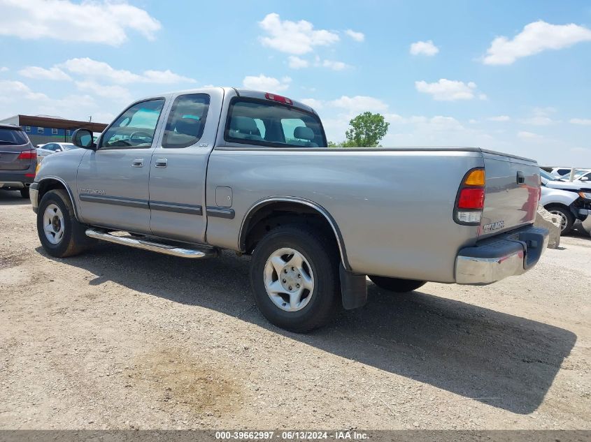
[(290, 98), (211, 87), (144, 98), (83, 149), (48, 156), (31, 185), (51, 256), (96, 240), (184, 258), (252, 255), (273, 324), (306, 332), (339, 305), (426, 281), (487, 284), (539, 260), (535, 161), (477, 148), (327, 148)]

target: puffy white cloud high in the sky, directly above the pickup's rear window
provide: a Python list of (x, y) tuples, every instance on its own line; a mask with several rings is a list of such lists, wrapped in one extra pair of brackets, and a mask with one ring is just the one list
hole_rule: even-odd
[(263, 45), (287, 54), (301, 55), (313, 51), (314, 46), (332, 45), (339, 36), (325, 29), (315, 30), (311, 22), (281, 20), (276, 13), (267, 14), (259, 27), (269, 36), (261, 37)]

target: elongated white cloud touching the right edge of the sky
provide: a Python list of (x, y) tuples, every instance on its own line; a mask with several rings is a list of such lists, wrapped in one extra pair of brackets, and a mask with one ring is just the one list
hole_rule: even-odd
[(583, 41), (591, 41), (591, 29), (578, 24), (549, 24), (539, 20), (526, 24), (513, 40), (505, 36), (492, 40), (484, 64), (513, 64), (522, 57), (544, 50), (558, 50)]

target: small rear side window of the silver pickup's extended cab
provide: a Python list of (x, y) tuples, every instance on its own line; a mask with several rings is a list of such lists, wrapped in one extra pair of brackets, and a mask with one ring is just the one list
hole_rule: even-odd
[(206, 94), (181, 95), (172, 105), (166, 121), (162, 147), (189, 147), (203, 135), (209, 96)]

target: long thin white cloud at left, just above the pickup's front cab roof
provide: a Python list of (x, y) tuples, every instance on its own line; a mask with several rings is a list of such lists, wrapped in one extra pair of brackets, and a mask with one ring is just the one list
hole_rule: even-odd
[(166, 71), (143, 71), (141, 74), (132, 73), (124, 69), (114, 69), (104, 61), (96, 61), (88, 57), (66, 60), (63, 64), (57, 65), (72, 74), (86, 78), (101, 78), (113, 83), (194, 83), (192, 78), (183, 77), (169, 70)]

